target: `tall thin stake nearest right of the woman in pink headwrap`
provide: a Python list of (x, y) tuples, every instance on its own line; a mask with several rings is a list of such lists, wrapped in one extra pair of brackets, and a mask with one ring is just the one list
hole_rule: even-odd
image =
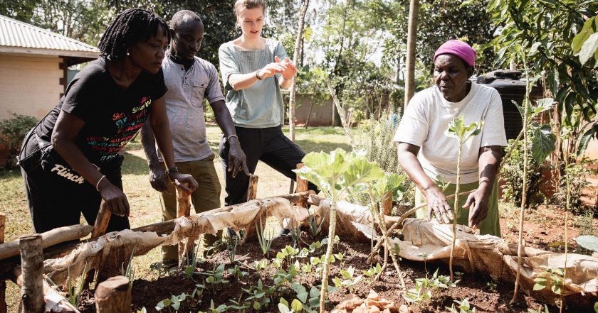
[(523, 252), (523, 219), (525, 218), (525, 203), (528, 202), (528, 109), (530, 107), (530, 76), (528, 64), (523, 57), (523, 67), (525, 69), (525, 108), (523, 109), (523, 192), (521, 194), (521, 211), (519, 213), (519, 236), (517, 239), (517, 273), (515, 274), (515, 290), (513, 290), (513, 299), (509, 304), (515, 303), (519, 292), (519, 280), (521, 275), (521, 253)]

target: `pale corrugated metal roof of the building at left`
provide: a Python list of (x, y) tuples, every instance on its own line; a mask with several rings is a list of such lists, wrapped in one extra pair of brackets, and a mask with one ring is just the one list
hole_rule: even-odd
[(1, 15), (0, 46), (98, 53), (93, 45)]

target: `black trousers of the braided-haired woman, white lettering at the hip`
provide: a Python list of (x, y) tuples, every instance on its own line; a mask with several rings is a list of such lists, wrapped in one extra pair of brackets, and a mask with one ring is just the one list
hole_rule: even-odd
[[(79, 224), (83, 214), (85, 221), (93, 225), (100, 209), (100, 192), (89, 182), (79, 178), (56, 151), (48, 151), (47, 145), (41, 148), (39, 139), (26, 137), (19, 156), (21, 175), (25, 183), (25, 191), (29, 204), (29, 212), (33, 219), (36, 233), (49, 231), (57, 227)], [(124, 157), (119, 155), (115, 160), (96, 165), (107, 180), (122, 190), (120, 167)], [(107, 231), (130, 229), (127, 216), (110, 217)]]

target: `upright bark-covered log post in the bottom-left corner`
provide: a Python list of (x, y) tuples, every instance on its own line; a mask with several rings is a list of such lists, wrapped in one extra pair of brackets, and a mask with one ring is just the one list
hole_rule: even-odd
[(43, 302), (43, 248), (40, 234), (19, 238), (21, 248), (21, 313), (42, 313)]

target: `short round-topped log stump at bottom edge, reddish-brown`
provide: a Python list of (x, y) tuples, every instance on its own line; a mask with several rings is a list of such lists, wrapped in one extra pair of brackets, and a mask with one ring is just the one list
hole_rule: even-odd
[(131, 290), (124, 276), (108, 278), (95, 288), (95, 309), (98, 313), (131, 312)]

